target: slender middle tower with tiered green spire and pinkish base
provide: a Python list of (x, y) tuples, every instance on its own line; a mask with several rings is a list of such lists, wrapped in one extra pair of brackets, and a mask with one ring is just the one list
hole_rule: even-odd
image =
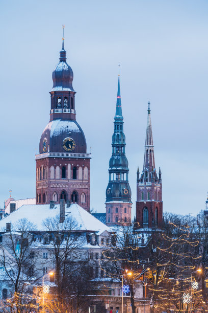
[(118, 76), (118, 94), (114, 133), (112, 137), (112, 157), (109, 161), (109, 183), (106, 189), (106, 223), (119, 225), (131, 222), (132, 200), (128, 184), (128, 161), (125, 156), (125, 135), (121, 109), (120, 78)]

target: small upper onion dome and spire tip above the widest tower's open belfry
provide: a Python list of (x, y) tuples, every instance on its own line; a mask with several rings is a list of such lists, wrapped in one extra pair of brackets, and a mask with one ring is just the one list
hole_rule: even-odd
[(64, 40), (60, 51), (60, 62), (53, 71), (53, 91), (74, 91), (72, 86), (73, 71), (66, 62), (66, 51), (64, 50)]

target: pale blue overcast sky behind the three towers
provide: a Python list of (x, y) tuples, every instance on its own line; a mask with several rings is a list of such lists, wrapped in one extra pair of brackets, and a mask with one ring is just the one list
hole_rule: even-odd
[(132, 189), (143, 167), (147, 102), (164, 211), (196, 215), (207, 185), (208, 2), (2, 1), (0, 204), (35, 197), (35, 149), (49, 120), (65, 24), (76, 120), (91, 160), (91, 207), (105, 211), (118, 63)]

